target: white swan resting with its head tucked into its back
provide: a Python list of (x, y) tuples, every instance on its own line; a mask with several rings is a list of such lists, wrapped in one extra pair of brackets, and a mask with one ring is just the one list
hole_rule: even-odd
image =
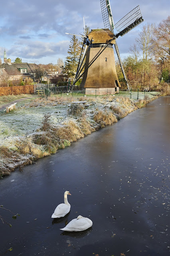
[(79, 215), (77, 219), (71, 220), (71, 222), (69, 222), (65, 228), (60, 229), (64, 231), (83, 231), (90, 228), (92, 225), (93, 222), (90, 219)]

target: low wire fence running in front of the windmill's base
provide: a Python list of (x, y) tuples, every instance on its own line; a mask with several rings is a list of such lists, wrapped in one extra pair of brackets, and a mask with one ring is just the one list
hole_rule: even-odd
[(111, 94), (109, 90), (102, 90), (99, 94), (99, 91), (96, 89), (93, 90), (92, 94), (86, 94), (85, 90), (79, 90), (79, 91), (59, 91), (59, 90), (49, 90), (47, 88), (44, 89), (45, 96), (49, 97), (103, 97), (103, 96), (109, 96), (114, 95), (115, 97), (127, 97), (129, 99), (150, 99), (152, 97), (155, 97), (156, 95), (159, 95), (159, 92), (150, 92), (150, 91), (132, 91), (132, 90), (119, 90), (119, 93)]

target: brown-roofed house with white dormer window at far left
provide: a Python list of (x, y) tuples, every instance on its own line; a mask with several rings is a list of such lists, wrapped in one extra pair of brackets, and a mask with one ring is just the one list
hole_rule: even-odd
[(22, 79), (24, 82), (31, 78), (36, 79), (36, 64), (32, 63), (11, 63), (10, 58), (6, 58), (6, 50), (4, 50), (4, 63), (0, 65), (0, 80), (2, 77), (9, 77), (11, 81)]

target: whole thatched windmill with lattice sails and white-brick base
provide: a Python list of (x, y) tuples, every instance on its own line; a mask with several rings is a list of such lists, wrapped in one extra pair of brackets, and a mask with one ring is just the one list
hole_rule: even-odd
[[(83, 75), (80, 87), (85, 89), (87, 94), (103, 94), (104, 91), (107, 91), (107, 94), (113, 94), (115, 91), (119, 91), (121, 85), (116, 73), (113, 44), (115, 45), (127, 87), (130, 89), (130, 83), (123, 69), (116, 39), (144, 21), (139, 6), (131, 10), (115, 25), (109, 0), (101, 0), (101, 10), (105, 29), (93, 29), (88, 35), (83, 36), (84, 42), (73, 81), (73, 85), (75, 85)], [(118, 31), (117, 34), (114, 33), (114, 28)], [(85, 56), (86, 61), (84, 63)], [(84, 67), (85, 70), (82, 73)]]

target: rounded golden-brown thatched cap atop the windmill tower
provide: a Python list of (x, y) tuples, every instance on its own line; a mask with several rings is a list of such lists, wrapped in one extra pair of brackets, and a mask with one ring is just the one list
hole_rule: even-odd
[[(93, 37), (93, 44), (107, 44), (113, 38), (113, 33), (109, 28), (97, 28), (92, 29), (88, 37), (89, 40)], [(115, 44), (114, 39), (111, 41), (111, 44)]]

